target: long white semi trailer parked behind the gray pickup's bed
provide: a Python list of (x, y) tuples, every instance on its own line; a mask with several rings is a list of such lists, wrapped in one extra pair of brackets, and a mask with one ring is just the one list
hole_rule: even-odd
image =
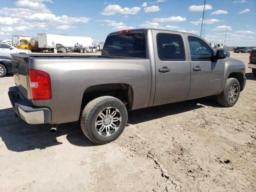
[(53, 51), (56, 44), (62, 44), (66, 48), (74, 48), (74, 44), (81, 44), (83, 47), (92, 45), (91, 37), (38, 33), (37, 38), (40, 50)]

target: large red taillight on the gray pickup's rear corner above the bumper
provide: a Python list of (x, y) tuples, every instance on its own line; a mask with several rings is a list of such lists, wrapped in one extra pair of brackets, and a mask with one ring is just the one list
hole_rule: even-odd
[(28, 80), (30, 95), (33, 100), (52, 99), (51, 80), (48, 73), (44, 71), (29, 69)]

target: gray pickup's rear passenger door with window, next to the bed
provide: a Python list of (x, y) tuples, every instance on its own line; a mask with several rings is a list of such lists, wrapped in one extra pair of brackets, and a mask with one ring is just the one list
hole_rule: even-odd
[(186, 100), (190, 87), (190, 62), (183, 33), (153, 30), (156, 61), (154, 106)]

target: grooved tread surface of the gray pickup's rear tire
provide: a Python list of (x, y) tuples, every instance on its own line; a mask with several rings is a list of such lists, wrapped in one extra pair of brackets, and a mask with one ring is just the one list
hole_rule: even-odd
[[(81, 121), (80, 121), (80, 125), (82, 128), (82, 131), (84, 133), (84, 135), (90, 139), (92, 142), (96, 143), (96, 144), (103, 144), (103, 143), (98, 143), (96, 142), (91, 136), (90, 136), (90, 131), (88, 129), (88, 120), (89, 120), (89, 116), (92, 113), (92, 110), (94, 110), (94, 108), (96, 108), (96, 106), (98, 106), (98, 104), (100, 104), (101, 102), (103, 102), (104, 100), (108, 100), (108, 99), (112, 99), (112, 100), (116, 100), (117, 102), (120, 101), (115, 97), (112, 96), (101, 96), (98, 97), (92, 101), (90, 101), (84, 108), (83, 112), (82, 112), (82, 116), (81, 116)], [(121, 101), (120, 101), (121, 102)]]

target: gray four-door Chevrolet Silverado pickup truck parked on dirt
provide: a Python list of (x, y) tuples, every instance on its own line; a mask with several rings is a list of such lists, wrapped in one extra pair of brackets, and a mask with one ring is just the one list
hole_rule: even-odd
[(245, 64), (215, 52), (194, 34), (157, 29), (113, 32), (101, 56), (13, 54), (9, 97), (29, 124), (80, 119), (96, 144), (116, 140), (127, 110), (216, 95), (233, 106), (246, 83)]

